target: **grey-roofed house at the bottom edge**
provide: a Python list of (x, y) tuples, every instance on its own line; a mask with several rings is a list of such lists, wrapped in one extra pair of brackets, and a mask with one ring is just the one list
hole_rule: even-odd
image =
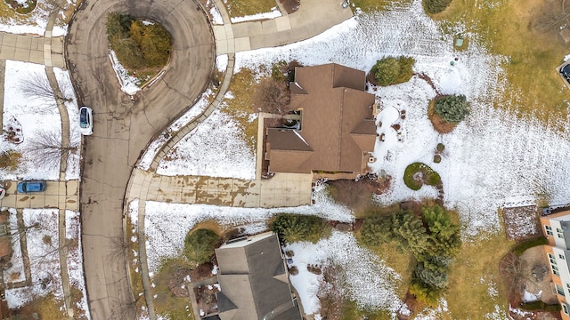
[[(266, 233), (216, 249), (222, 320), (300, 320), (277, 235)], [(283, 317), (285, 316), (285, 317)]]

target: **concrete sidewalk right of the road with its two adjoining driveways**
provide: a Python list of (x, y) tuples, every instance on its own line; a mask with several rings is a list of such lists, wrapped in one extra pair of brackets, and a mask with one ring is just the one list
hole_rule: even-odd
[[(311, 203), (312, 174), (277, 173), (270, 180), (237, 180), (202, 176), (162, 176), (156, 172), (159, 162), (170, 149), (219, 107), (233, 75), (234, 52), (290, 44), (316, 36), (322, 31), (353, 16), (336, 1), (304, 0), (297, 12), (274, 20), (231, 24), (221, 0), (216, 5), (224, 26), (213, 26), (216, 53), (228, 54), (228, 66), (216, 98), (199, 116), (175, 134), (160, 148), (148, 171), (134, 168), (126, 188), (126, 202), (139, 199), (137, 232), (144, 239), (146, 201), (184, 204), (216, 204), (240, 207), (279, 207)], [(259, 156), (257, 157), (259, 158)], [(259, 160), (257, 160), (259, 161)], [(126, 212), (126, 209), (125, 209)], [(139, 241), (142, 285), (151, 320), (153, 308), (151, 279), (147, 265), (146, 242)]]

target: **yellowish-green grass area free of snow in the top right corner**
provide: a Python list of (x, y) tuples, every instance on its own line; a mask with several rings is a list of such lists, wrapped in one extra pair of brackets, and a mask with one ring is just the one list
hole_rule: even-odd
[(433, 18), (444, 25), (465, 24), (466, 31), (480, 36), (490, 52), (509, 57), (502, 63), (509, 87), (493, 101), (496, 107), (543, 121), (566, 117), (566, 100), (570, 96), (555, 70), (567, 54), (566, 46), (557, 38), (558, 28), (549, 33), (539, 33), (533, 28), (543, 7), (550, 2), (522, 0), (493, 4), (491, 7), (476, 0), (453, 0), (446, 11)]

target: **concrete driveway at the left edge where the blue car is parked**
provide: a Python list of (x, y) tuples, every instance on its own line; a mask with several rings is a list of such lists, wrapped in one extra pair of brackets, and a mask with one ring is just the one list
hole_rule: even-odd
[(47, 181), (45, 192), (19, 194), (18, 181), (4, 181), (6, 196), (0, 200), (0, 207), (10, 208), (60, 208), (79, 211), (79, 181)]

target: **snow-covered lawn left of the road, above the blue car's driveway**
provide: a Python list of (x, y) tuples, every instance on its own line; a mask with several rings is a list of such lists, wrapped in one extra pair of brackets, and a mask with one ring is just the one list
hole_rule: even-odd
[[(61, 91), (66, 97), (73, 97), (66, 102), (69, 114), (70, 144), (77, 147), (69, 156), (66, 178), (79, 179), (79, 145), (81, 136), (78, 132), (78, 110), (75, 94), (70, 83), (69, 73), (54, 68)], [(4, 82), (4, 132), (20, 129), (19, 143), (7, 139), (6, 133), (0, 139), (0, 151), (14, 150), (22, 158), (16, 171), (0, 169), (4, 180), (58, 180), (60, 177), (59, 151), (49, 153), (38, 151), (38, 145), (49, 144), (54, 148), (61, 141), (61, 115), (53, 97), (33, 96), (22, 89), (22, 84), (32, 81), (47, 84), (45, 66), (34, 63), (6, 60)], [(11, 129), (12, 128), (12, 129)], [(53, 143), (49, 143), (53, 142)]]

